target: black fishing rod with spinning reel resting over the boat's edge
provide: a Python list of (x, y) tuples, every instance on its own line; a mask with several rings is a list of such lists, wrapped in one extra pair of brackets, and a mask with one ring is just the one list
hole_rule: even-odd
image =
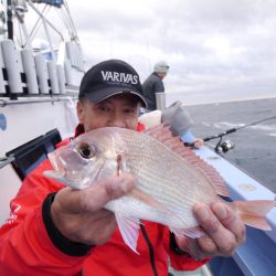
[(229, 135), (229, 134), (233, 134), (233, 132), (235, 132), (235, 131), (237, 131), (240, 129), (243, 129), (243, 128), (246, 128), (246, 127), (250, 127), (250, 126), (254, 126), (254, 125), (257, 125), (259, 123), (263, 123), (263, 121), (266, 121), (266, 120), (270, 120), (270, 119), (275, 119), (275, 118), (276, 118), (276, 116), (272, 116), (272, 117), (268, 117), (268, 118), (265, 118), (265, 119), (262, 119), (262, 120), (253, 121), (253, 123), (244, 125), (242, 127), (230, 128), (230, 129), (227, 129), (227, 130), (225, 130), (225, 131), (223, 131), (221, 134), (205, 137), (205, 138), (203, 138), (203, 141), (210, 141), (210, 140), (213, 140), (213, 139), (220, 139), (219, 142), (216, 144), (214, 150), (217, 153), (226, 152), (226, 151), (233, 149), (235, 147), (235, 145), (231, 140), (226, 140), (224, 142), (222, 142), (222, 137), (223, 136)]

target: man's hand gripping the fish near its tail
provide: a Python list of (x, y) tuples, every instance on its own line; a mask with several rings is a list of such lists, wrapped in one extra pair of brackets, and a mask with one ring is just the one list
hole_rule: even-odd
[(231, 256), (245, 242), (245, 225), (225, 203), (215, 202), (209, 208), (198, 203), (194, 215), (205, 231), (199, 238), (176, 236), (178, 246), (195, 259)]

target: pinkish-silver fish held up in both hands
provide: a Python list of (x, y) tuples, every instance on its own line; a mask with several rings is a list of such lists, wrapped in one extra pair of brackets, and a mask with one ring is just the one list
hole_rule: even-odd
[[(229, 197), (223, 179), (200, 159), (168, 127), (144, 132), (106, 127), (83, 134), (49, 155), (54, 171), (45, 176), (74, 189), (85, 189), (97, 180), (131, 173), (137, 187), (106, 204), (115, 213), (120, 233), (136, 252), (140, 220), (167, 225), (176, 235), (203, 234), (193, 216), (195, 203)], [(265, 214), (275, 201), (230, 203), (248, 225), (269, 230)]]

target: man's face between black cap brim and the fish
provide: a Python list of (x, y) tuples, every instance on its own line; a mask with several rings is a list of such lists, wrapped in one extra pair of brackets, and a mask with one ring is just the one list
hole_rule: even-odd
[(77, 103), (79, 123), (85, 131), (100, 127), (137, 129), (140, 104), (129, 94), (112, 96), (100, 103), (83, 99)]

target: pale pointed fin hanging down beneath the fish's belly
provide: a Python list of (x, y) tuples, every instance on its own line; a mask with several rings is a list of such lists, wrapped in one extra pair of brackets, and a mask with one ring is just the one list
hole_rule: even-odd
[(119, 213), (115, 213), (115, 217), (124, 242), (139, 255), (137, 252), (137, 241), (139, 237), (140, 220), (137, 217), (125, 217)]

